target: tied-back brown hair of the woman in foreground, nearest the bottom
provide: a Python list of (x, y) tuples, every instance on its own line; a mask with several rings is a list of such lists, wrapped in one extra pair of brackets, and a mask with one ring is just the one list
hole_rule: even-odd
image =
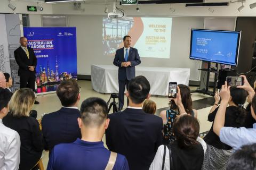
[(180, 148), (189, 148), (198, 144), (196, 140), (199, 134), (200, 125), (197, 118), (183, 114), (175, 118), (173, 133)]

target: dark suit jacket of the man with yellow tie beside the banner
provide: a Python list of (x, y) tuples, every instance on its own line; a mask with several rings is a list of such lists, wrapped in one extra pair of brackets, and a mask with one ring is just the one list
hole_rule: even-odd
[(21, 47), (17, 48), (14, 51), (15, 60), (19, 65), (18, 75), (30, 75), (30, 73), (35, 75), (36, 73), (36, 69), (33, 72), (31, 72), (28, 68), (28, 66), (30, 65), (34, 65), (34, 67), (36, 67), (37, 64), (37, 58), (35, 56), (33, 48), (28, 47), (28, 53), (29, 59), (27, 57), (27, 54)]

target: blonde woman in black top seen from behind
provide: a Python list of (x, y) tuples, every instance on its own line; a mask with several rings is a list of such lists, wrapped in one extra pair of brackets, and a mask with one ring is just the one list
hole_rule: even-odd
[(10, 113), (3, 118), (4, 125), (20, 135), (20, 170), (33, 168), (43, 151), (39, 124), (34, 117), (29, 117), (34, 101), (35, 94), (31, 89), (17, 90), (10, 100)]

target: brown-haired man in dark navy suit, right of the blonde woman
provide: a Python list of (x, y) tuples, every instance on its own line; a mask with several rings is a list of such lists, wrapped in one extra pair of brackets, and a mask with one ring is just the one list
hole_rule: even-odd
[(57, 88), (57, 96), (61, 101), (61, 109), (44, 115), (42, 132), (44, 149), (51, 150), (59, 143), (74, 142), (81, 138), (77, 117), (79, 117), (79, 87), (75, 80), (64, 80)]

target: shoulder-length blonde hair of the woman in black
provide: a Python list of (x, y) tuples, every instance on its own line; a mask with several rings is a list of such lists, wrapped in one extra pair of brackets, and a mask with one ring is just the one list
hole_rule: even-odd
[(29, 88), (22, 88), (14, 92), (10, 100), (10, 113), (14, 117), (29, 116), (35, 102), (35, 94)]

